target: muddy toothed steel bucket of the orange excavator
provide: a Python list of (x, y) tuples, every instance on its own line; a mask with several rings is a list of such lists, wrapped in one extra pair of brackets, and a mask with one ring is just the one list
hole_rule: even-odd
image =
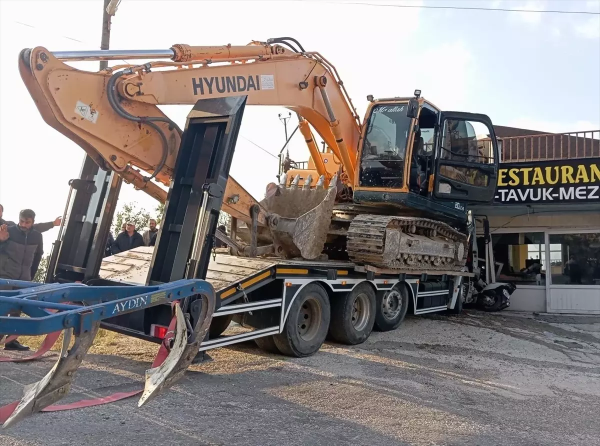
[(308, 260), (319, 257), (331, 224), (337, 180), (338, 176), (334, 175), (325, 188), (325, 176), (321, 176), (316, 187), (311, 188), (310, 175), (302, 186), (300, 176), (296, 175), (286, 187), (287, 175), (284, 174), (277, 189), (260, 202), (269, 214), (268, 226), (277, 255)]

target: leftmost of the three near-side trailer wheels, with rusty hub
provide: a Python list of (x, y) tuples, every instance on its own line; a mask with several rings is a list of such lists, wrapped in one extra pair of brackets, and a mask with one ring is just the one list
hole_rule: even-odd
[(309, 283), (293, 301), (283, 332), (273, 335), (275, 345), (287, 356), (313, 355), (325, 341), (330, 318), (327, 292), (317, 283)]

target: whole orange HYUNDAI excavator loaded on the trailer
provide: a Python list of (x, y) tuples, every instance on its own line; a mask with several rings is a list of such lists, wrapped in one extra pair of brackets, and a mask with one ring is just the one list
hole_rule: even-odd
[[(297, 113), (307, 169), (281, 175), (260, 202), (232, 177), (227, 181), (223, 211), (245, 228), (236, 234), (241, 243), (218, 236), (236, 255), (326, 256), (394, 270), (466, 264), (467, 205), (491, 203), (496, 188), (499, 157), (488, 116), (442, 112), (416, 91), (368, 97), (361, 124), (333, 65), (290, 38), (130, 51), (129, 59), (171, 60), (98, 73), (62, 61), (87, 56), (37, 47), (22, 52), (19, 70), (49, 125), (161, 202), (167, 192), (151, 180), (170, 184), (183, 132), (158, 105), (244, 94), (250, 105)], [(487, 129), (487, 150), (472, 122)], [(425, 130), (433, 131), (433, 151), (424, 150)]]

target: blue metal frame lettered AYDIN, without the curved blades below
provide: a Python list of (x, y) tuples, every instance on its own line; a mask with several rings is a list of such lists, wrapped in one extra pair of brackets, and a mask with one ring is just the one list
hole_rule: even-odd
[[(75, 336), (95, 322), (192, 295), (214, 294), (204, 280), (176, 280), (157, 286), (86, 286), (0, 280), (0, 336), (37, 336), (73, 328)], [(66, 303), (69, 304), (66, 304)], [(76, 303), (76, 304), (74, 304)], [(6, 316), (20, 311), (29, 318)], [(49, 310), (59, 310), (50, 312)]]

